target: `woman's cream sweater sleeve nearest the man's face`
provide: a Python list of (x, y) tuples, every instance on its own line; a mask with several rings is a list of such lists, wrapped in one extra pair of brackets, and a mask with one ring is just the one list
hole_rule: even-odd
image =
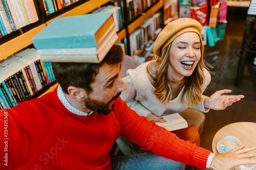
[(138, 115), (146, 117), (149, 113), (151, 113), (151, 111), (147, 110), (140, 104), (139, 101), (135, 99), (137, 91), (132, 82), (132, 73), (133, 70), (127, 70), (127, 76), (122, 79), (127, 84), (127, 90), (122, 91), (120, 97), (124, 102), (127, 103), (127, 106), (133, 109)]

